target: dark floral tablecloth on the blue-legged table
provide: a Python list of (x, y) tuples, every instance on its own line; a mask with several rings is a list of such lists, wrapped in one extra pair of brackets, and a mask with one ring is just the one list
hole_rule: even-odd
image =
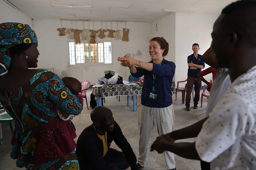
[(100, 97), (118, 96), (118, 95), (141, 95), (142, 83), (136, 83), (136, 85), (103, 85), (101, 87), (93, 87), (93, 95), (95, 100), (98, 101)]

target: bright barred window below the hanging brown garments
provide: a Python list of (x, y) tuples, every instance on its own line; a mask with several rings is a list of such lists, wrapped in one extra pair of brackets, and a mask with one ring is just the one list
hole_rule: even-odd
[(111, 42), (81, 43), (69, 42), (69, 64), (112, 63)]

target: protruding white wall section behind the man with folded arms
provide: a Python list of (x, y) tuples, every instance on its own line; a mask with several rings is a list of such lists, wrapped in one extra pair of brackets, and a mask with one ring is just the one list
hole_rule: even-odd
[[(169, 42), (169, 53), (166, 59), (176, 64), (175, 85), (177, 81), (187, 79), (187, 57), (193, 53), (192, 44), (195, 42), (199, 44), (198, 53), (201, 55), (210, 47), (212, 26), (217, 18), (218, 15), (171, 13), (152, 22), (153, 37), (163, 36)], [(205, 69), (208, 67), (209, 65), (205, 65)], [(204, 78), (210, 81), (212, 74)]]

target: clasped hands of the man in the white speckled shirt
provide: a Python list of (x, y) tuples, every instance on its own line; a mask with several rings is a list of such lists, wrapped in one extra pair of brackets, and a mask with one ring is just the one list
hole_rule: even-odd
[(156, 138), (156, 141), (151, 145), (150, 151), (156, 150), (158, 153), (163, 153), (166, 151), (166, 146), (168, 145), (169, 142), (175, 142), (175, 139), (171, 136), (170, 133), (158, 136)]

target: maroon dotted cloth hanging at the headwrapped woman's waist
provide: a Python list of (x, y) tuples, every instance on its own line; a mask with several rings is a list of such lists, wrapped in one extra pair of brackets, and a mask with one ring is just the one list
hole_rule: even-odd
[(59, 117), (33, 130), (37, 140), (33, 162), (35, 165), (59, 159), (76, 147), (75, 130), (69, 121)]

